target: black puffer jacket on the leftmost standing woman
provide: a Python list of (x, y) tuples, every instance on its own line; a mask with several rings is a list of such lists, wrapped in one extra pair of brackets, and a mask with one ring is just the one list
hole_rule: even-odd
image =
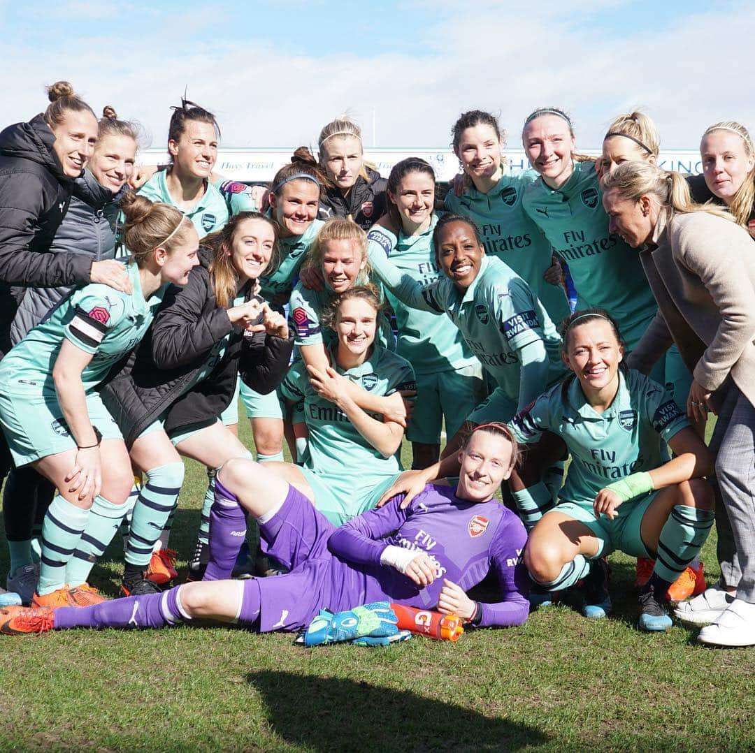
[(68, 210), (73, 181), (42, 115), (0, 133), (0, 356), (10, 348), (17, 303), (11, 285), (57, 287), (89, 281), (91, 257), (46, 254)]

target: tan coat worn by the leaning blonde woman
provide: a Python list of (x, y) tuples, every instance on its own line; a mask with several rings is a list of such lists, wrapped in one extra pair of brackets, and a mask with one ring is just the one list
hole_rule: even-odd
[(658, 315), (630, 356), (648, 370), (676, 342), (695, 380), (710, 392), (727, 376), (755, 405), (755, 244), (730, 220), (703, 211), (662, 212), (657, 247), (639, 254)]

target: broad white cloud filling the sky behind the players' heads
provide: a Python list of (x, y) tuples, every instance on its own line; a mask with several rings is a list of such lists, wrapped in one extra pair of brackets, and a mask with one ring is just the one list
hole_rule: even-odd
[[(216, 35), (197, 44), (190, 40), (202, 38), (200, 11), (112, 28), (106, 19), (97, 37), (61, 34), (53, 48), (4, 45), (4, 68), (13, 73), (5, 77), (0, 122), (39, 112), (42, 85), (67, 78), (95, 109), (112, 104), (141, 121), (153, 146), (164, 142), (169, 107), (186, 85), (190, 99), (217, 112), (227, 146), (313, 143), (322, 124), (347, 109), (371, 143), (373, 108), (378, 146), (444, 146), (459, 112), (470, 108), (500, 112), (515, 146), (525, 115), (544, 104), (572, 112), (583, 148), (598, 146), (613, 116), (638, 103), (667, 148), (695, 146), (713, 121), (755, 126), (745, 91), (755, 80), (751, 5), (680, 16), (652, 32), (639, 32), (632, 5), (624, 5), (625, 28), (610, 34), (585, 23), (598, 7), (592, 0), (519, 10), (485, 0), (455, 13), (451, 0), (419, 5), (427, 8), (424, 29), (402, 29), (396, 20), (403, 51), (382, 53), (365, 38), (361, 57), (291, 55), (251, 31), (245, 43)], [(224, 18), (233, 23), (232, 14)]]

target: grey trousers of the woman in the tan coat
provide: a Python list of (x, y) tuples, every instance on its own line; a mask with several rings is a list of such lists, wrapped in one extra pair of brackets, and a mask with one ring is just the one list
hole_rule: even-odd
[(729, 383), (710, 439), (722, 585), (755, 603), (755, 407)]

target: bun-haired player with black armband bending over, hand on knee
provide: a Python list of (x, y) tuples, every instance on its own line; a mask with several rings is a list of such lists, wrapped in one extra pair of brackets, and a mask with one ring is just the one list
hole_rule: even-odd
[(134, 483), (121, 432), (97, 387), (139, 343), (168, 284), (186, 284), (197, 263), (196, 230), (174, 207), (132, 193), (121, 203), (133, 254), (131, 290), (75, 290), (0, 364), (0, 421), (14, 463), (30, 464), (58, 490), (42, 527), (36, 604), (102, 601), (83, 581), (66, 585), (90, 518), (95, 541), (103, 528), (112, 534)]

